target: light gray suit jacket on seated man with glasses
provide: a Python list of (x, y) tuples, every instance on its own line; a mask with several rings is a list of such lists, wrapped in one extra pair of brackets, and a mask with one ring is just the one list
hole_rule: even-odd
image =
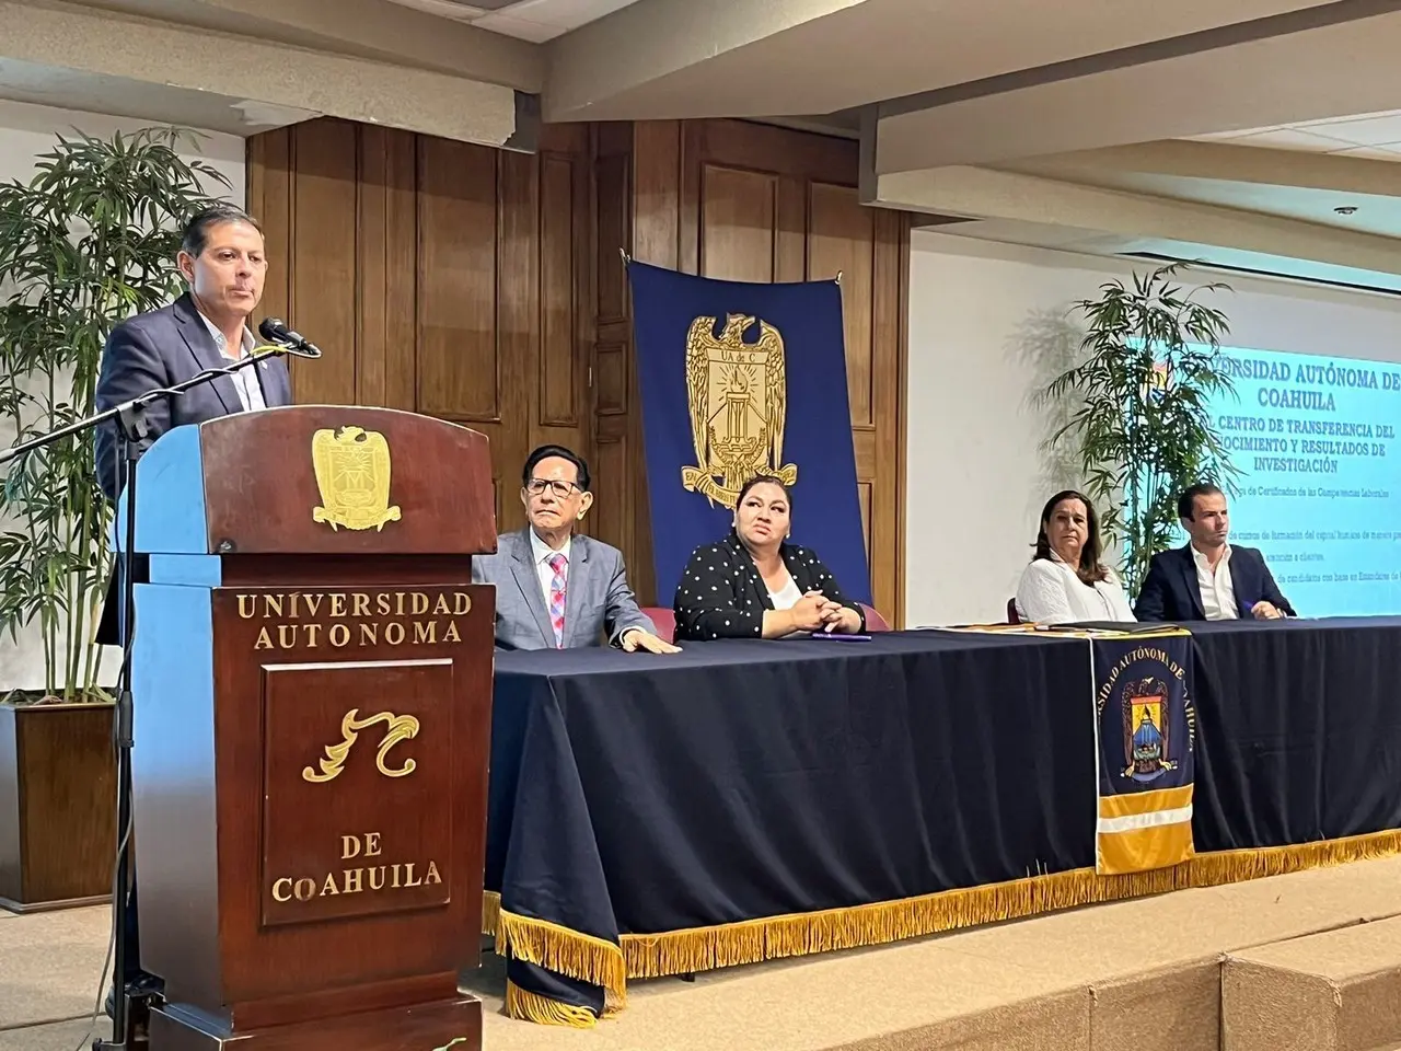
[[(539, 586), (530, 527), (496, 538), (495, 555), (472, 558), (472, 583), (496, 584), (496, 645), (506, 650), (555, 649), (555, 629)], [(565, 590), (565, 647), (609, 643), (630, 629), (656, 633), (628, 587), (622, 552), (574, 535)]]

